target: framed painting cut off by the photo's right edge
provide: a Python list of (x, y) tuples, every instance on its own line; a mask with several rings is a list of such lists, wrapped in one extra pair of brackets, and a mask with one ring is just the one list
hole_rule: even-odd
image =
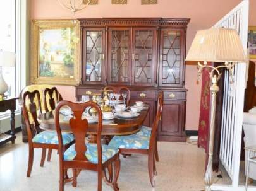
[(248, 28), (248, 49), (250, 59), (256, 59), (256, 26)]

